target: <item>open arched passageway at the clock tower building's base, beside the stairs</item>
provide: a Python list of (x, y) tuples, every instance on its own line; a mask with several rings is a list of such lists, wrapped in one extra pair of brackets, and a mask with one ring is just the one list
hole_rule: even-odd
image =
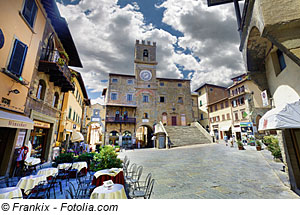
[(153, 148), (153, 129), (148, 125), (142, 125), (136, 130), (136, 144), (141, 148)]

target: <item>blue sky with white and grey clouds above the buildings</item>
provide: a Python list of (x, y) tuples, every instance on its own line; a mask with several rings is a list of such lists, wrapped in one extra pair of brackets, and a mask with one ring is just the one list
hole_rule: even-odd
[[(108, 73), (134, 74), (136, 39), (157, 43), (157, 76), (227, 86), (244, 73), (232, 4), (206, 0), (57, 0), (83, 63), (93, 103), (102, 103)], [(101, 81), (102, 80), (102, 81)]]

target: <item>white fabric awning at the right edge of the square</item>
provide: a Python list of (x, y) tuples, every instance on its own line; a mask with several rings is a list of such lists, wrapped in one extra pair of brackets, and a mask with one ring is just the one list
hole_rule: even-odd
[(300, 101), (269, 110), (259, 120), (259, 131), (285, 128), (300, 128)]

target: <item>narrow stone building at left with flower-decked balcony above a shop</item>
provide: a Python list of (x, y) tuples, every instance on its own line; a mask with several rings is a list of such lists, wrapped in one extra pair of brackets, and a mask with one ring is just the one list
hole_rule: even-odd
[(31, 156), (48, 161), (52, 159), (52, 147), (58, 137), (64, 93), (75, 89), (68, 65), (81, 66), (81, 62), (70, 33), (58, 28), (59, 25), (68, 26), (54, 12), (57, 6), (45, 4), (44, 9), (49, 19), (38, 50), (25, 114), (34, 121), (33, 130), (26, 136), (26, 141), (32, 144)]

